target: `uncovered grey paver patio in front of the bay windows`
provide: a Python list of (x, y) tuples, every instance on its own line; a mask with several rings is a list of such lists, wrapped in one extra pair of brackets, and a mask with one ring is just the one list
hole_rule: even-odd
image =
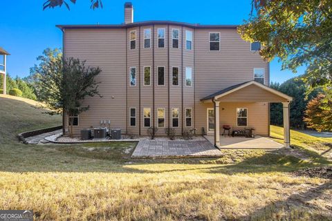
[(216, 157), (221, 151), (208, 140), (141, 140), (131, 157)]

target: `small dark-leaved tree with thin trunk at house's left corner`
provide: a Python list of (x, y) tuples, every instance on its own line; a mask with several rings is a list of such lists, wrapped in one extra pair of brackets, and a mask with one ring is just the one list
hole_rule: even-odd
[(69, 133), (73, 137), (73, 116), (87, 111), (89, 106), (82, 105), (85, 97), (99, 95), (95, 77), (100, 68), (86, 67), (80, 59), (50, 59), (38, 68), (37, 84), (42, 93), (39, 97), (50, 109), (50, 115), (62, 114), (71, 119)]

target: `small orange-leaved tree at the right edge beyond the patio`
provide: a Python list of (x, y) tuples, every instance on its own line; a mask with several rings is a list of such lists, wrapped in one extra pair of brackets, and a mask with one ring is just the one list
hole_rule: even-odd
[(304, 121), (317, 131), (332, 131), (332, 99), (329, 95), (317, 95), (306, 106)]

